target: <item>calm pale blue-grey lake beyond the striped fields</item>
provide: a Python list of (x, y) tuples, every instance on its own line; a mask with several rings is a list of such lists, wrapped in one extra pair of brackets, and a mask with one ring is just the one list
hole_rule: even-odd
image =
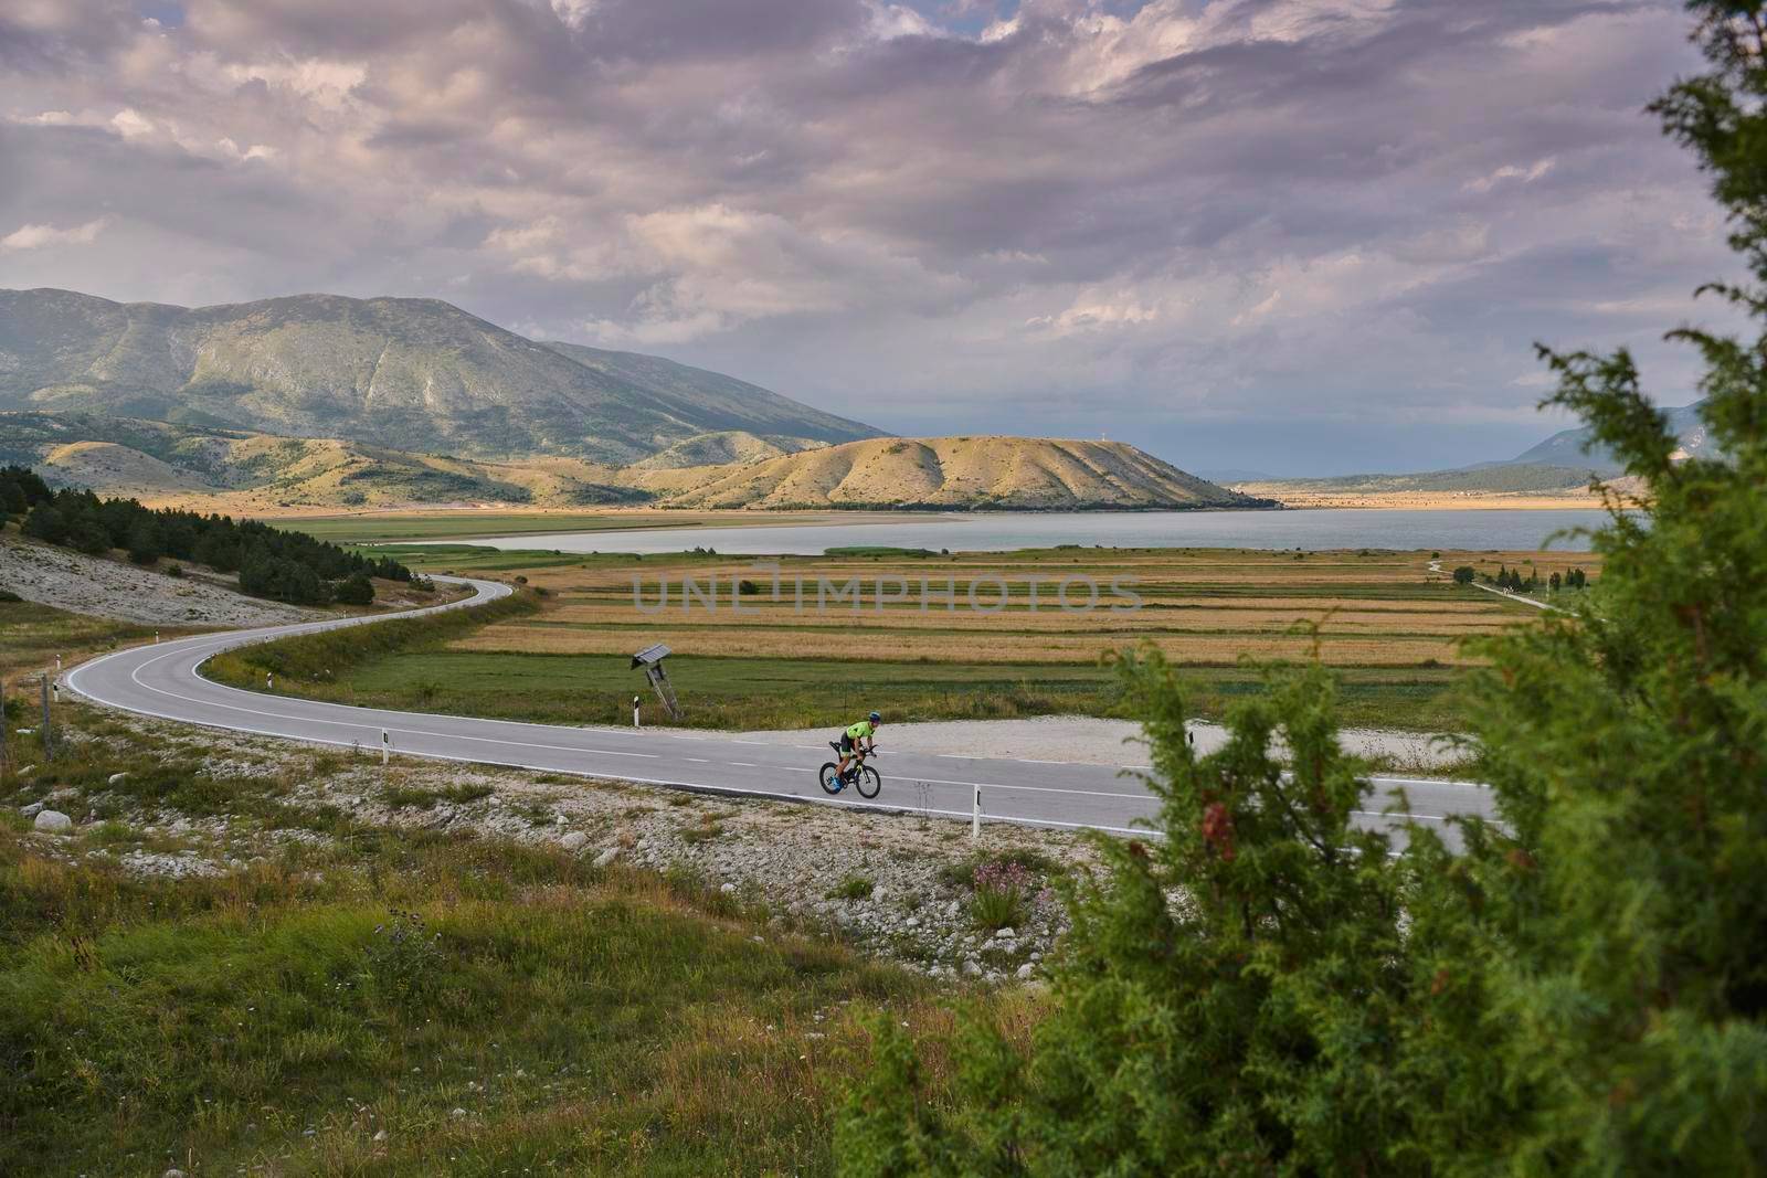
[[(565, 553), (679, 553), (712, 547), (733, 555), (808, 555), (861, 544), (998, 553), (1057, 544), (1104, 547), (1392, 547), (1539, 549), (1555, 532), (1594, 528), (1594, 509), (1553, 510), (1187, 510), (1187, 512), (910, 512), (899, 519), (855, 523), (747, 525), (707, 528), (629, 528), (553, 532), (444, 544)], [(1581, 537), (1553, 544), (1587, 551)]]

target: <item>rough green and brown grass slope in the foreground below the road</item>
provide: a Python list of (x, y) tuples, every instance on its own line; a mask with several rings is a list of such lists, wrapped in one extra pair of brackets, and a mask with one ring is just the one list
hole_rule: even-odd
[[(933, 1042), (940, 1083), (929, 980), (689, 871), (288, 804), (348, 754), (223, 772), (97, 712), (64, 731), (0, 782), (0, 1173), (823, 1174), (869, 1019)], [(48, 789), (102, 821), (25, 834)], [(200, 830), (276, 850), (221, 878), (118, 862)]]

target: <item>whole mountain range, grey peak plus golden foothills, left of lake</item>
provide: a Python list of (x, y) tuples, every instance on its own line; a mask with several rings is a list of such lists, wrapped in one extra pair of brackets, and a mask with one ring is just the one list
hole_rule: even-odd
[(191, 309), (0, 291), (0, 461), (246, 514), (1269, 505), (1122, 443), (894, 438), (723, 373), (337, 295)]

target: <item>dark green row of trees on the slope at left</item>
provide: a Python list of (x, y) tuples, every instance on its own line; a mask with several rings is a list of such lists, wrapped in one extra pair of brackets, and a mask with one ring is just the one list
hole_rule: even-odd
[[(244, 593), (297, 606), (366, 606), (375, 600), (371, 578), (428, 585), (396, 560), (369, 560), (254, 519), (150, 509), (138, 500), (99, 498), (72, 487), (51, 491), (27, 466), (0, 468), (0, 525), (11, 517), (21, 521), (25, 535), (44, 544), (90, 556), (122, 549), (138, 565), (187, 560), (237, 572)], [(173, 570), (182, 572), (177, 565)]]

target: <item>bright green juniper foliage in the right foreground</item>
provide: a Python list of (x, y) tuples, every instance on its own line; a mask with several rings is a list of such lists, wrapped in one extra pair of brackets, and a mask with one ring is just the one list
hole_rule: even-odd
[[(1714, 71), (1656, 109), (1767, 281), (1763, 5), (1691, 7)], [(1767, 337), (1680, 336), (1723, 459), (1673, 457), (1624, 351), (1546, 353), (1649, 512), (1613, 512), (1569, 611), (1484, 645), (1504, 827), (1389, 855), (1318, 669), (1196, 758), (1168, 668), (1127, 661), (1164, 839), (1073, 894), (1028, 1049), (965, 1031), (959, 1111), (884, 1031), (848, 1173), (1767, 1173)]]

